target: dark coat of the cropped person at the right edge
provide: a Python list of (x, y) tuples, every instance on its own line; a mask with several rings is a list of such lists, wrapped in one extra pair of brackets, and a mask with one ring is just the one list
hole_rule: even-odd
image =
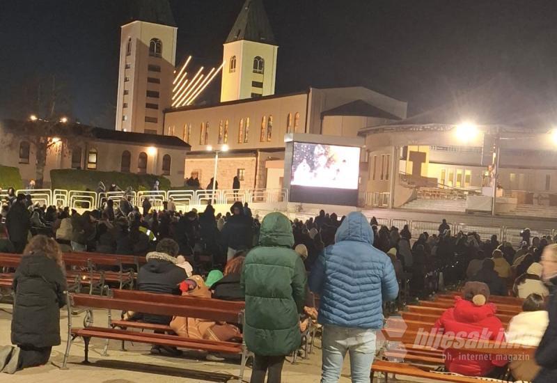
[[(557, 285), (557, 277), (552, 282)], [(534, 378), (533, 383), (557, 382), (557, 287), (551, 291), (547, 311), (549, 325), (535, 351), (535, 362), (542, 367), (542, 370)]]

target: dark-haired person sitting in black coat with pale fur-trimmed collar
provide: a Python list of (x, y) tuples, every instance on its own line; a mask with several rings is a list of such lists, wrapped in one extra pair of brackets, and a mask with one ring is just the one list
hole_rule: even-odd
[[(180, 295), (179, 285), (187, 279), (185, 269), (176, 265), (180, 247), (169, 238), (161, 240), (157, 244), (157, 251), (147, 254), (147, 263), (139, 269), (137, 274), (137, 288), (141, 291), (154, 292), (156, 294)], [(158, 325), (168, 325), (172, 317), (166, 315), (143, 314), (143, 321)], [(137, 318), (137, 316), (134, 316)], [(160, 350), (176, 353), (168, 347), (158, 347), (153, 345), (151, 352), (158, 353)]]

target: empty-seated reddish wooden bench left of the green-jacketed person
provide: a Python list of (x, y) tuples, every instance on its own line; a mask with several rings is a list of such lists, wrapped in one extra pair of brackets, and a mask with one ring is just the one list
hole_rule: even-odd
[[(120, 291), (120, 294), (123, 292)], [(183, 338), (177, 335), (168, 334), (152, 334), (139, 331), (130, 331), (124, 329), (111, 328), (111, 310), (135, 311), (138, 313), (149, 313), (168, 316), (182, 316), (187, 318), (200, 318), (205, 320), (213, 320), (216, 322), (230, 322), (243, 324), (244, 313), (240, 309), (230, 309), (216, 307), (215, 305), (207, 305), (208, 299), (194, 297), (176, 297), (180, 299), (172, 303), (162, 302), (172, 297), (161, 297), (161, 295), (142, 293), (143, 299), (125, 299), (118, 297), (100, 297), (95, 295), (76, 294), (68, 292), (68, 343), (66, 346), (64, 361), (62, 368), (67, 368), (70, 347), (75, 338), (81, 337), (85, 343), (85, 359), (84, 363), (88, 363), (88, 346), (91, 338), (103, 338), (106, 340), (116, 341), (132, 341), (135, 343), (147, 343), (152, 345), (162, 345), (169, 347), (186, 348), (189, 350), (205, 350), (207, 352), (221, 352), (230, 354), (241, 354), (242, 361), (240, 364), (240, 380), (244, 376), (246, 360), (249, 352), (244, 343), (207, 341), (204, 339)], [(146, 295), (147, 294), (147, 295)], [(118, 292), (116, 293), (118, 295)], [(159, 299), (160, 298), (160, 299)], [(218, 302), (217, 302), (218, 303)], [(238, 303), (238, 302), (228, 302)], [(84, 328), (74, 328), (72, 326), (72, 313), (74, 307), (81, 306), (92, 310), (93, 308), (102, 308), (109, 311), (109, 327), (93, 327), (91, 322), (85, 323)], [(107, 344), (108, 345), (108, 344)], [(104, 354), (107, 351), (107, 345), (104, 347)]]

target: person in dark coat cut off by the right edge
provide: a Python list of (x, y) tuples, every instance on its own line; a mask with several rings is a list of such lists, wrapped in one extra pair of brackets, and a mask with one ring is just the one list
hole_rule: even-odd
[(557, 244), (548, 244), (542, 254), (542, 279), (551, 286), (547, 302), (549, 325), (535, 351), (535, 362), (542, 369), (533, 383), (557, 382)]

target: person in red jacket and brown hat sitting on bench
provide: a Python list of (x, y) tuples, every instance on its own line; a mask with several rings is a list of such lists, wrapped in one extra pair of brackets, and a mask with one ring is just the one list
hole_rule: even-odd
[[(503, 324), (495, 316), (496, 307), (487, 303), (489, 286), (481, 282), (466, 282), (462, 297), (455, 297), (455, 306), (448, 308), (437, 322), (432, 333), (459, 334), (466, 339), (478, 339), (487, 332), (490, 341), (504, 338)], [(487, 329), (487, 331), (486, 331)], [(487, 377), (496, 375), (496, 368), (503, 367), (507, 360), (496, 355), (470, 354), (462, 350), (446, 349), (445, 367), (451, 373), (467, 376)]]

